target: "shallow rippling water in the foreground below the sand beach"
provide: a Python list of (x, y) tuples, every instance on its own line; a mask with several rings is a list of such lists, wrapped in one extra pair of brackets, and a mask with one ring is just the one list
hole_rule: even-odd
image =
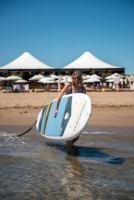
[(87, 127), (71, 149), (22, 130), (0, 126), (0, 199), (134, 199), (133, 128)]

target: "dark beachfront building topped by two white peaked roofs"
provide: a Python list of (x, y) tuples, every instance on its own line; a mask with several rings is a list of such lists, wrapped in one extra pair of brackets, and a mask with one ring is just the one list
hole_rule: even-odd
[(23, 73), (23, 78), (28, 80), (35, 74), (69, 74), (74, 70), (80, 70), (86, 74), (98, 74), (102, 73), (125, 73), (125, 68), (110, 65), (90, 52), (83, 53), (79, 58), (71, 62), (70, 64), (61, 67), (54, 68), (41, 62), (29, 52), (24, 52), (21, 56), (8, 63), (7, 65), (0, 67), (0, 72), (10, 74), (11, 72)]

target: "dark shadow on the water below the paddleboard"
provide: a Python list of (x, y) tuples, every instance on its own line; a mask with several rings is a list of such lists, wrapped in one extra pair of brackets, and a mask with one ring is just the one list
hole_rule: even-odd
[(114, 157), (109, 154), (103, 153), (103, 148), (94, 148), (87, 146), (72, 146), (67, 148), (61, 143), (45, 143), (47, 146), (56, 148), (70, 156), (82, 157), (88, 159), (102, 159), (104, 163), (122, 165), (125, 160), (120, 157)]

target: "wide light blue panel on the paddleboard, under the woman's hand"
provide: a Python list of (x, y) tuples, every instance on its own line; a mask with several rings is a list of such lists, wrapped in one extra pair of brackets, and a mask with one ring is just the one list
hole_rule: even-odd
[(54, 136), (54, 137), (59, 136), (61, 123), (62, 123), (67, 101), (68, 101), (68, 97), (62, 98), (60, 100), (59, 107), (58, 107), (58, 114), (56, 117), (54, 117), (56, 101), (52, 103), (47, 124), (46, 124), (45, 133), (44, 133), (45, 135)]

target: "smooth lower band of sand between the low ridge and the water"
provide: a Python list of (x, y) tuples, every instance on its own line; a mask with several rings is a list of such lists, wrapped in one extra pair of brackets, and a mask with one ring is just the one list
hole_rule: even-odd
[[(0, 125), (32, 125), (41, 107), (0, 109)], [(88, 126), (134, 127), (134, 109), (130, 107), (92, 107)]]

